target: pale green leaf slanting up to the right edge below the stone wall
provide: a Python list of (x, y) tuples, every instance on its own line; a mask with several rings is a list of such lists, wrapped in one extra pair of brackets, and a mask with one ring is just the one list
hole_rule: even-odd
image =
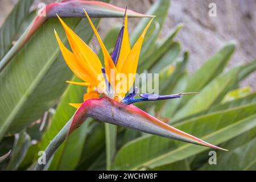
[[(234, 67), (230, 71), (222, 73), (218, 77), (214, 78), (214, 80), (201, 90), (200, 94), (193, 97), (187, 102), (187, 104), (177, 111), (174, 116), (174, 120), (199, 113), (200, 111), (209, 109), (209, 107), (214, 104), (218, 104), (222, 98), (225, 97), (226, 93), (241, 81), (240, 78), (245, 78), (251, 72), (255, 71), (256, 67), (251, 68), (251, 65), (254, 64), (256, 64), (256, 60)], [(205, 102), (205, 100), (207, 100), (207, 102)], [(189, 111), (186, 112), (186, 110)]]

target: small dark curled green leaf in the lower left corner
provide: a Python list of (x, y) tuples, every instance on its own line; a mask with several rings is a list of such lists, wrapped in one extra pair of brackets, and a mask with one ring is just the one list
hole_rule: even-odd
[(31, 138), (25, 133), (21, 132), (15, 135), (13, 152), (11, 152), (10, 162), (6, 170), (16, 170), (25, 158), (28, 148), (30, 147)]

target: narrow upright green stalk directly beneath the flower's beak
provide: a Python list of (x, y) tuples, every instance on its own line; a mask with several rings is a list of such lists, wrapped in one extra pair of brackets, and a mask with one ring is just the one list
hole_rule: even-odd
[(115, 143), (117, 140), (117, 126), (105, 123), (106, 135), (106, 169), (110, 170), (112, 167), (112, 160), (115, 155)]

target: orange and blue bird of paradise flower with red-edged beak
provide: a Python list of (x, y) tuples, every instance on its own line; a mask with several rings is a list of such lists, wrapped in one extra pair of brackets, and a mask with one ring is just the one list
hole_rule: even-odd
[[(96, 53), (94, 53), (59, 16), (59, 20), (65, 30), (72, 52), (64, 46), (55, 31), (56, 39), (59, 43), (64, 60), (73, 73), (84, 81), (67, 82), (69, 84), (87, 87), (87, 93), (84, 94), (84, 102), (80, 104), (71, 104), (73, 107), (77, 108), (77, 111), (72, 118), (71, 124), (68, 125), (69, 134), (79, 127), (87, 117), (92, 117), (99, 121), (129, 127), (131, 129), (166, 138), (225, 150), (184, 133), (183, 131), (177, 130), (133, 105), (134, 102), (181, 98), (183, 93), (168, 96), (143, 93), (139, 95), (141, 98), (135, 98), (137, 95), (136, 89), (133, 93), (126, 96), (126, 93), (133, 86), (135, 78), (127, 81), (125, 86), (119, 84), (121, 82), (121, 78), (118, 76), (120, 73), (128, 77), (129, 74), (134, 75), (137, 72), (143, 39), (154, 18), (150, 20), (141, 36), (139, 36), (137, 42), (131, 47), (127, 30), (127, 14), (125, 14), (123, 27), (119, 33), (114, 51), (110, 55), (86, 11), (85, 15), (100, 43), (104, 55), (104, 67)], [(110, 76), (113, 74), (114, 81)], [(103, 76), (99, 78), (99, 75)]]

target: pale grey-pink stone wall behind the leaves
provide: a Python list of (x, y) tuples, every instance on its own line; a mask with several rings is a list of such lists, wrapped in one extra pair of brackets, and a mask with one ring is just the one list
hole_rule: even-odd
[[(17, 0), (0, 0), (0, 26), (10, 13)], [(26, 1), (26, 0), (23, 0)], [(54, 0), (35, 0), (51, 3)], [(168, 1), (168, 0), (166, 0)], [(110, 3), (120, 7), (146, 13), (155, 0), (112, 0)], [(208, 15), (209, 3), (216, 3), (217, 17)], [(139, 19), (129, 19), (129, 31), (133, 30)], [(99, 31), (102, 36), (110, 26), (122, 22), (122, 19), (103, 19)], [(230, 40), (237, 41), (237, 50), (229, 67), (256, 59), (256, 0), (172, 0), (166, 25), (161, 37), (176, 24), (183, 22), (185, 27), (177, 35), (183, 50), (191, 53), (189, 71), (196, 69), (210, 55)], [(256, 73), (253, 73), (242, 86), (251, 86), (256, 90)]]

